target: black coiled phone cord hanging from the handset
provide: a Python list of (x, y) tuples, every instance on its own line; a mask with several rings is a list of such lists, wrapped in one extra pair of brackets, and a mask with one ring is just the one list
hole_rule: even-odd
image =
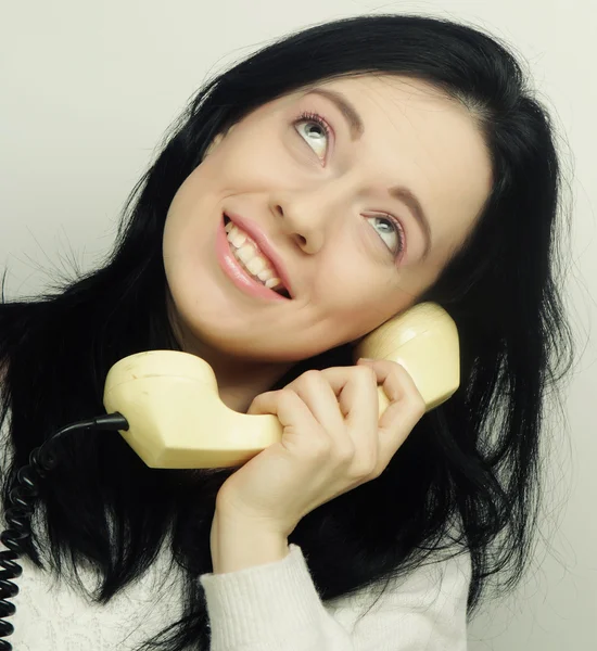
[(23, 549), (22, 540), (31, 535), (31, 516), (35, 511), (35, 501), (39, 495), (39, 480), (46, 477), (49, 471), (58, 464), (58, 459), (51, 455), (53, 443), (66, 434), (81, 430), (128, 430), (128, 422), (118, 412), (100, 416), (89, 420), (66, 425), (36, 447), (29, 455), (29, 463), (23, 465), (16, 473), (18, 484), (10, 492), (10, 500), (13, 505), (7, 509), (5, 520), (11, 528), (0, 534), (0, 540), (8, 547), (8, 551), (0, 551), (0, 651), (12, 651), (12, 644), (4, 639), (14, 631), (14, 626), (4, 620), (16, 612), (14, 603), (7, 598), (15, 597), (18, 587), (11, 579), (23, 574), (23, 567), (16, 563)]

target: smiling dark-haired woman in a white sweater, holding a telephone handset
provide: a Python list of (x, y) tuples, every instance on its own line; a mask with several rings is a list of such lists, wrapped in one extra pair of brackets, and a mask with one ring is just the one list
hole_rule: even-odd
[[(161, 471), (110, 432), (58, 444), (11, 641), (465, 649), (487, 579), (522, 575), (544, 392), (570, 363), (554, 136), (512, 55), (427, 17), (298, 31), (196, 95), (129, 204), (101, 268), (1, 306), (4, 510), (30, 450), (101, 414), (109, 369), (141, 350), (204, 358), (285, 445)], [(230, 251), (265, 233), (277, 276), (234, 255), (275, 291), (227, 273), (225, 224)], [(460, 390), (424, 416), (399, 365), (353, 360), (422, 301), (461, 346)]]

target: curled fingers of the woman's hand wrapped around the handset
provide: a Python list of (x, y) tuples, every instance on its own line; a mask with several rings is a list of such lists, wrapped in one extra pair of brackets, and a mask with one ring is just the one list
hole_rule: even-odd
[[(381, 418), (378, 384), (390, 400)], [(331, 439), (340, 457), (348, 458), (351, 452), (363, 457), (360, 467), (374, 465), (379, 474), (424, 411), (423, 398), (406, 369), (382, 359), (306, 371), (283, 390), (258, 395), (247, 413), (277, 416), (288, 445), (303, 449), (308, 442), (306, 454), (317, 455)], [(301, 436), (302, 432), (309, 436)]]

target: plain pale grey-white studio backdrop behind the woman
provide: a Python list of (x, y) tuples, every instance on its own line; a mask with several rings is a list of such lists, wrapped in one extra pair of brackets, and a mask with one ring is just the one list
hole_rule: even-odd
[[(566, 301), (577, 360), (548, 420), (541, 536), (524, 583), (488, 603), (471, 651), (597, 649), (597, 5), (595, 0), (2, 0), (0, 266), (7, 297), (85, 271), (154, 148), (203, 81), (271, 39), (363, 13), (463, 21), (513, 46), (559, 130), (573, 213)], [(566, 188), (564, 188), (566, 189)]]

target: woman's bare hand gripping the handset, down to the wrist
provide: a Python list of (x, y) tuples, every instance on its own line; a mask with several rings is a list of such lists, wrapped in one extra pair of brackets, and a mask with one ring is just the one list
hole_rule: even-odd
[[(378, 384), (391, 400), (379, 418)], [(223, 484), (216, 509), (226, 518), (288, 537), (322, 503), (378, 477), (425, 405), (397, 362), (306, 371), (280, 391), (258, 395), (247, 413), (272, 413), (282, 438)]]

